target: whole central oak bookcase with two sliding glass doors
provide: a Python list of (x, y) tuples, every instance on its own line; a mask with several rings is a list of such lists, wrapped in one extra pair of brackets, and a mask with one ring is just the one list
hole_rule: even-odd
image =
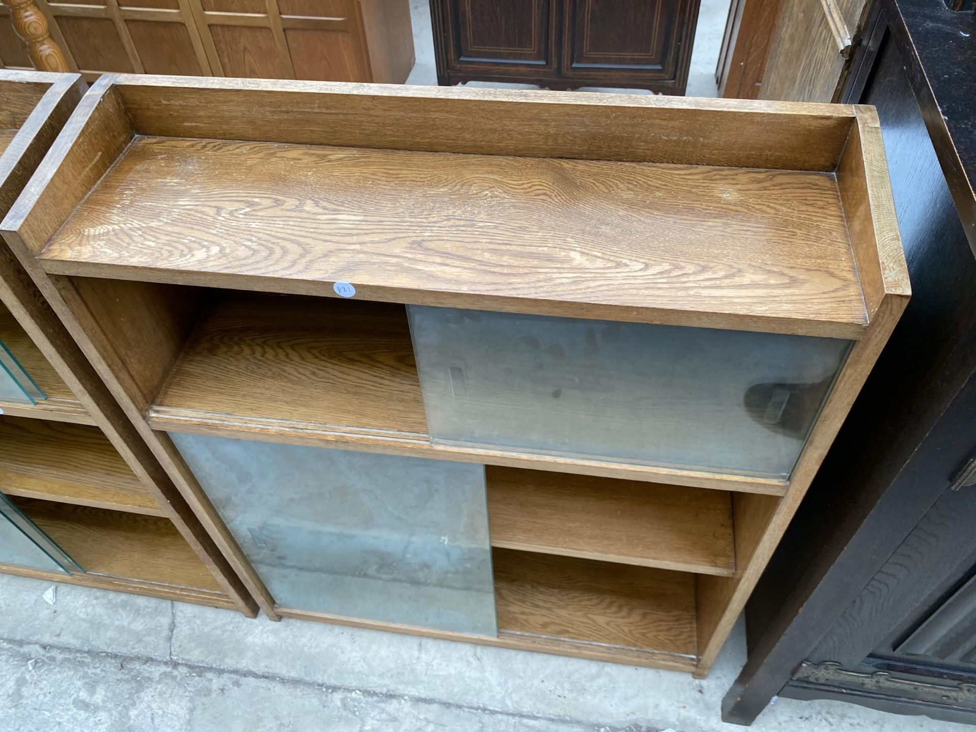
[(3, 228), (269, 618), (699, 676), (909, 297), (859, 106), (104, 76)]

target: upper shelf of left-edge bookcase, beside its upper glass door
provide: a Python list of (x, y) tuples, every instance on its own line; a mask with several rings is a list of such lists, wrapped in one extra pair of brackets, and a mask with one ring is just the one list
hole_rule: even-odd
[(41, 387), (47, 396), (36, 404), (2, 404), (6, 414), (20, 417), (37, 417), (62, 422), (92, 425), (81, 402), (71, 393), (71, 389), (55, 371), (51, 362), (44, 357), (30, 337), (26, 334), (14, 315), (0, 303), (0, 342), (10, 349), (31, 379)]

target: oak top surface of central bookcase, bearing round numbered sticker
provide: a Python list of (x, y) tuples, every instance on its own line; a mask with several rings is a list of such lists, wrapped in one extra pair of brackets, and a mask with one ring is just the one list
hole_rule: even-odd
[[(856, 338), (833, 176), (136, 138), (49, 271)], [(676, 314), (677, 313), (677, 314)]]

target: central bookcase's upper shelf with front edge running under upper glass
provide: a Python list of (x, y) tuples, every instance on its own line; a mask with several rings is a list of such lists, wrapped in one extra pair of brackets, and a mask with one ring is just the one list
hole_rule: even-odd
[(431, 444), (402, 305), (216, 291), (155, 429), (783, 495), (786, 481)]

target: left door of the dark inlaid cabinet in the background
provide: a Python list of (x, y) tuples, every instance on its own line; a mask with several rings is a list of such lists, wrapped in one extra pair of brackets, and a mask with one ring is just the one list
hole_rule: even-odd
[[(551, 69), (556, 47), (556, 0), (448, 0), (451, 61), (496, 66), (509, 75)], [(526, 69), (526, 66), (529, 68)]]

